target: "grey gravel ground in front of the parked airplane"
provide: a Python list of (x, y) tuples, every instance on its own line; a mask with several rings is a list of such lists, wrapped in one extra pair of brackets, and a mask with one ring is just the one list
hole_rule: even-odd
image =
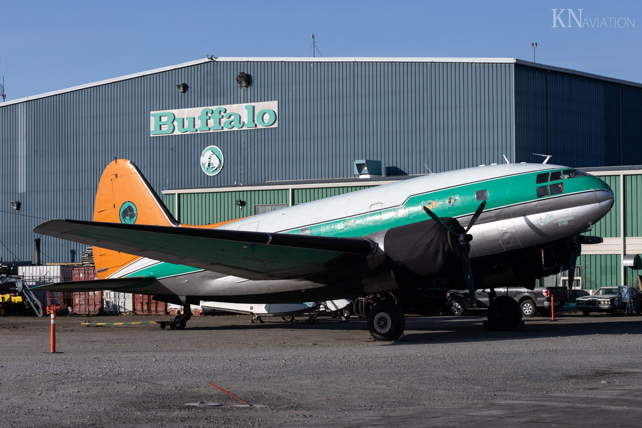
[[(92, 321), (159, 319), (169, 318)], [(50, 354), (48, 318), (0, 318), (3, 427), (419, 427), (427, 416), (500, 402), (510, 409), (532, 397), (634, 391), (642, 375), (637, 316), (535, 317), (521, 332), (483, 331), (480, 317), (409, 316), (408, 340), (394, 343), (370, 340), (356, 318), (248, 320), (194, 317), (185, 330), (161, 330), (59, 317), (59, 353)], [(207, 382), (266, 407), (234, 407)], [(223, 405), (185, 406), (201, 400)]]

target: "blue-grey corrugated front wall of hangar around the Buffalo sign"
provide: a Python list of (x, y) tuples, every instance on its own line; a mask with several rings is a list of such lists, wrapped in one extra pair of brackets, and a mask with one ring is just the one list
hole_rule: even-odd
[[(114, 157), (133, 160), (158, 192), (341, 178), (360, 158), (381, 160), (386, 175), (512, 158), (513, 66), (213, 61), (0, 106), (0, 214), (10, 224), (0, 230), (0, 257), (30, 260), (41, 219), (91, 219)], [(252, 75), (248, 89), (234, 80), (240, 71)], [(271, 100), (279, 101), (278, 128), (149, 136), (150, 111)], [(213, 177), (198, 164), (210, 144), (225, 155)], [(21, 201), (19, 214), (12, 200)], [(72, 250), (84, 248), (42, 237), (44, 261), (71, 261)]]

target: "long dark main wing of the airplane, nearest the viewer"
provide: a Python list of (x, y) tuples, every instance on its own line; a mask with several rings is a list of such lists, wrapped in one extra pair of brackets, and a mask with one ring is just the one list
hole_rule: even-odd
[(54, 219), (44, 234), (241, 278), (293, 279), (363, 261), (376, 244), (361, 237), (247, 232)]

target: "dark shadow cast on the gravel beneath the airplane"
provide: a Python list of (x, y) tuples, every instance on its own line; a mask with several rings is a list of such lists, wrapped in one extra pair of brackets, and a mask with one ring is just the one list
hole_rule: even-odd
[[(591, 320), (587, 320), (591, 318)], [(473, 343), (480, 341), (494, 340), (528, 340), (535, 338), (571, 338), (578, 336), (591, 336), (603, 334), (610, 336), (642, 334), (640, 326), (642, 317), (638, 316), (560, 316), (557, 322), (551, 322), (544, 317), (525, 318), (525, 329), (523, 331), (498, 332), (482, 330), (484, 316), (408, 316), (406, 317), (406, 341), (390, 342), (402, 343)], [(367, 321), (365, 318), (350, 318), (348, 321), (332, 320), (330, 318), (319, 318), (318, 324), (308, 324), (304, 319), (296, 322), (281, 320), (270, 320), (263, 324), (232, 324), (219, 325), (216, 327), (189, 327), (188, 330), (249, 330), (249, 329), (279, 329), (279, 330), (301, 330), (301, 332), (313, 332), (314, 330), (361, 330), (365, 335)], [(386, 342), (382, 342), (386, 343)]]

